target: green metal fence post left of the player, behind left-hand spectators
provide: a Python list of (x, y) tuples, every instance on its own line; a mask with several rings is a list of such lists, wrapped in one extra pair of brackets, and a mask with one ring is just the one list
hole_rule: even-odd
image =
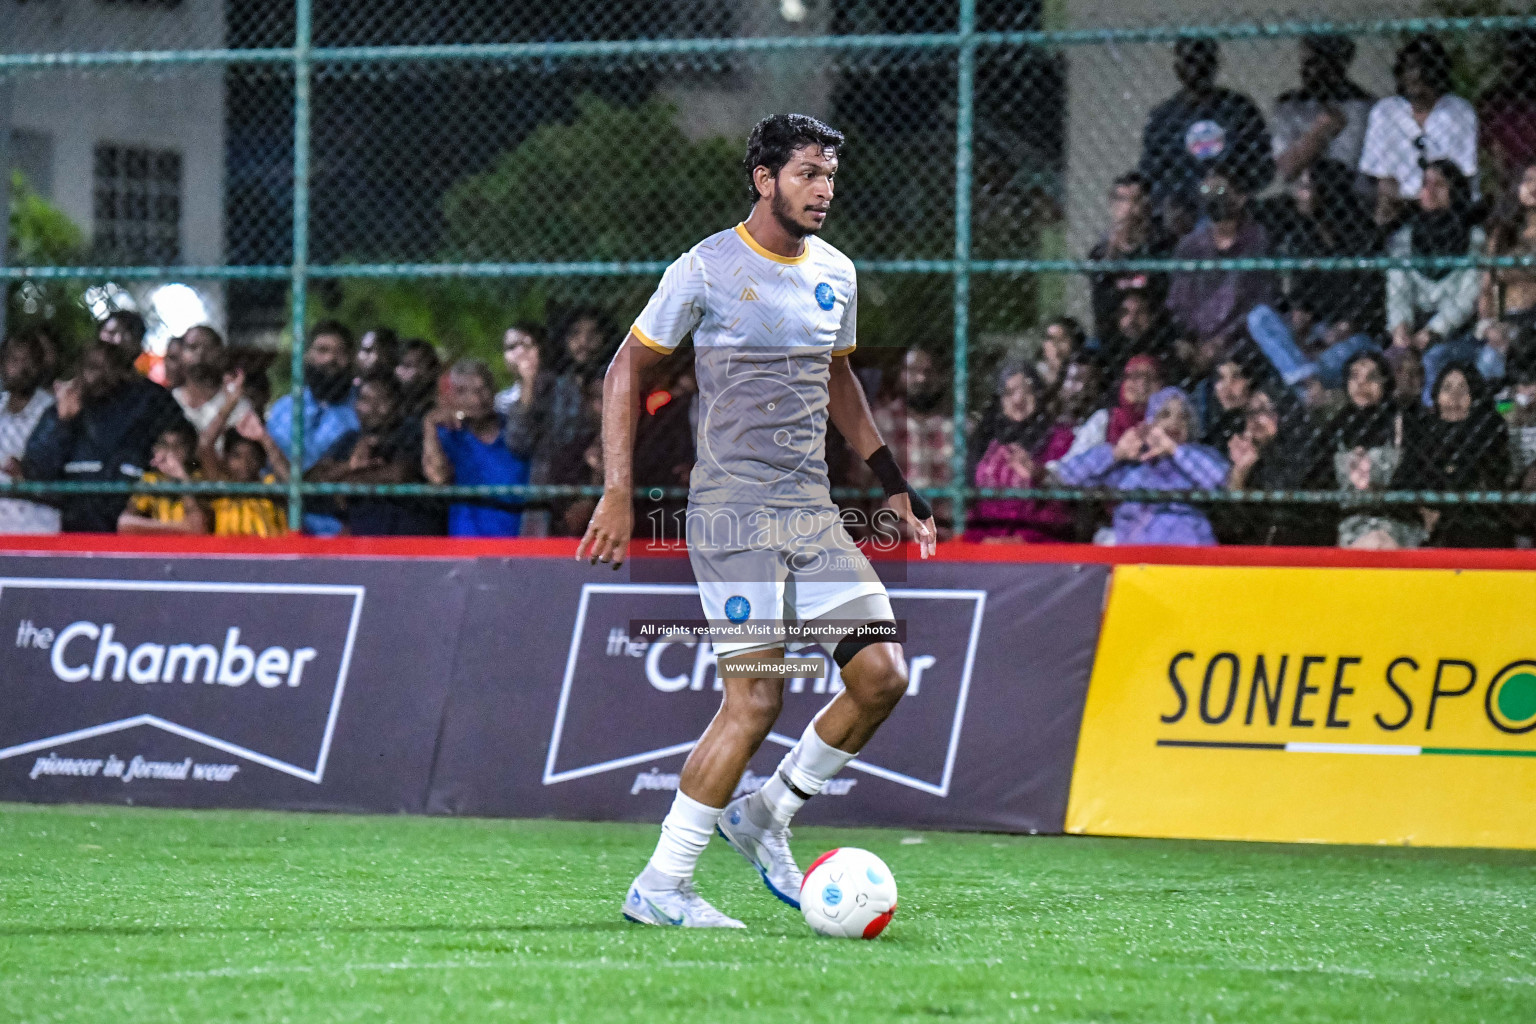
[(309, 86), (310, 14), (313, 0), (293, 0), (293, 352), (289, 372), (292, 396), (292, 456), (289, 457), (289, 528), (304, 528), (304, 301), (309, 292)]

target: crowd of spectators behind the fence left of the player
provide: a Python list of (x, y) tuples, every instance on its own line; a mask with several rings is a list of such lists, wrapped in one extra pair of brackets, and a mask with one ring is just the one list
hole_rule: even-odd
[[(287, 388), (273, 398), (272, 352), (227, 345), (206, 324), (172, 338), (161, 359), (144, 352), (144, 321), (131, 310), (111, 313), (72, 359), (48, 330), (14, 332), (0, 342), (3, 479), (127, 485), (0, 499), (0, 531), (281, 536), (292, 528), (284, 496), (175, 485), (273, 485), (303, 474), (313, 484), (421, 487), (309, 496), (300, 527), (312, 536), (579, 533), (590, 502), (433, 493), (601, 482), (601, 375), (613, 330), (602, 313), (576, 310), (554, 336), (548, 348), (542, 325), (510, 327), (513, 385), (498, 391), (484, 361), (444, 367), (427, 339), (402, 341), (387, 327), (355, 339), (346, 324), (324, 321), (306, 339), (295, 401)], [(682, 395), (676, 379), (670, 385), (660, 393)], [(651, 411), (660, 404), (653, 396)], [(691, 433), (673, 462), (656, 482), (687, 482)]]

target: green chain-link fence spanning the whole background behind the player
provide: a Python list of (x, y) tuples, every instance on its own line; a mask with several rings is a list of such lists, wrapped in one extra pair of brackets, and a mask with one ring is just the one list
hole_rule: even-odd
[[(3, 18), (0, 530), (581, 533), (608, 355), (746, 215), (753, 123), (803, 111), (848, 137), (825, 238), (860, 270), (856, 368), (948, 534), (1536, 534), (1514, 5)], [(696, 422), (685, 352), (645, 395), (642, 522), (680, 508)], [(828, 464), (874, 500), (836, 436)]]

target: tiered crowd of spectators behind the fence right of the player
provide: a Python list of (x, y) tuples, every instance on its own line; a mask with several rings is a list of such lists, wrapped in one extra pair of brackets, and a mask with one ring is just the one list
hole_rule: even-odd
[[(1536, 253), (1536, 89), (1525, 74), (1536, 35), (1508, 40), (1504, 84), (1473, 100), (1456, 95), (1433, 35), (1401, 46), (1396, 91), (1379, 98), (1350, 77), (1347, 37), (1306, 37), (1298, 49), (1299, 84), (1266, 123), (1250, 97), (1218, 84), (1215, 41), (1178, 41), (1180, 89), (1149, 115), (1137, 167), (1114, 181), (1089, 259), (1422, 263), (1091, 273), (1091, 327), (1057, 321), (1034, 362), (1003, 361), (997, 411), (978, 418), (969, 444), (969, 482), (1169, 499), (1091, 514), (983, 500), (969, 536), (1404, 548), (1536, 533), (1513, 507), (1370, 497), (1536, 488), (1536, 272), (1444, 266)], [(1078, 381), (1112, 390), (1084, 401)], [(1178, 500), (1220, 488), (1341, 500)]]

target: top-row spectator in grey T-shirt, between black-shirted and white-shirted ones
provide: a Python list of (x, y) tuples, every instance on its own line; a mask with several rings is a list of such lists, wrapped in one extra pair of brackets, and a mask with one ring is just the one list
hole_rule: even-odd
[(1303, 35), (1298, 55), (1301, 88), (1275, 100), (1275, 169), (1283, 180), (1295, 181), (1327, 158), (1353, 178), (1375, 103), (1349, 77), (1355, 41), (1347, 35)]

